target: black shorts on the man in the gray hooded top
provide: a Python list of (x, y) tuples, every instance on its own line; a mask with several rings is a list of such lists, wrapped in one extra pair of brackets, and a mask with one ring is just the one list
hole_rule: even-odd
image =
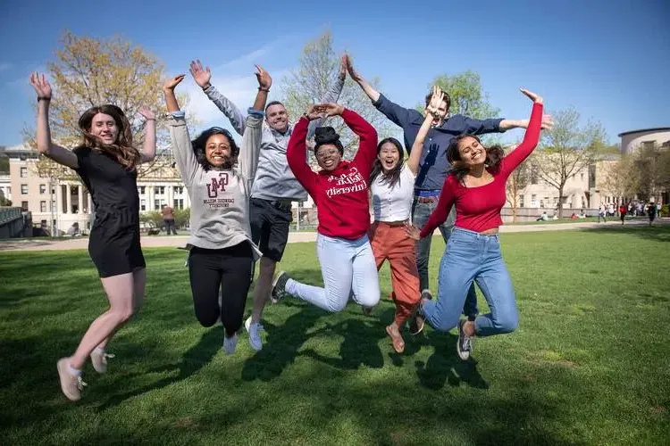
[(249, 203), (251, 238), (270, 260), (280, 261), (289, 241), (289, 226), (293, 219), (291, 204), (252, 198)]

